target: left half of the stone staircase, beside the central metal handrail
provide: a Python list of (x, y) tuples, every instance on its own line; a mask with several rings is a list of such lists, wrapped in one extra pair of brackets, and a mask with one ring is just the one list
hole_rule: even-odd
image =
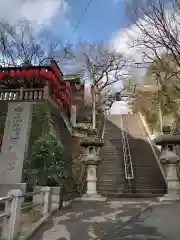
[(105, 196), (121, 195), (125, 181), (119, 115), (108, 116), (104, 140), (100, 151), (103, 161), (97, 171), (97, 190)]

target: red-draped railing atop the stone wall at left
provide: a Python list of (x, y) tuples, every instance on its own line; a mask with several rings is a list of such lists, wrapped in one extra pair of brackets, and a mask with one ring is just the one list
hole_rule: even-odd
[(0, 68), (0, 81), (6, 86), (6, 90), (1, 91), (2, 100), (6, 100), (5, 97), (7, 100), (20, 100), (20, 89), (24, 86), (26, 92), (24, 88), (23, 100), (41, 100), (43, 99), (43, 93), (40, 89), (47, 85), (50, 95), (70, 116), (72, 105), (71, 84), (63, 81), (63, 74), (55, 61), (52, 61), (50, 66)]

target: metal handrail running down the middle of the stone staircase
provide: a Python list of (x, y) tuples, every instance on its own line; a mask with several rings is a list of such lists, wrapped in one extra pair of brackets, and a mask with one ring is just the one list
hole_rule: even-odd
[(123, 155), (124, 155), (125, 177), (127, 180), (132, 180), (134, 179), (134, 171), (133, 171), (133, 165), (131, 160), (131, 151), (129, 147), (128, 134), (127, 134), (128, 126), (127, 126), (126, 115), (121, 115), (121, 129), (122, 129), (122, 145), (123, 145)]

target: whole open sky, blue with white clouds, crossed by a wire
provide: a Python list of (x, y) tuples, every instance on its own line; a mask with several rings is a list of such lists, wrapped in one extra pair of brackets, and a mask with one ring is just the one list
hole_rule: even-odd
[[(144, 0), (129, 1), (135, 6), (144, 2)], [(169, 2), (169, 0), (162, 1)], [(103, 41), (111, 43), (128, 59), (137, 61), (141, 58), (139, 49), (132, 50), (129, 47), (132, 41), (139, 37), (140, 32), (126, 16), (125, 0), (91, 0), (79, 27), (72, 36), (88, 2), (89, 0), (0, 0), (0, 16), (13, 24), (17, 20), (26, 18), (37, 32), (44, 29), (51, 30), (49, 36), (53, 38), (55, 35), (65, 44), (69, 38), (72, 44), (79, 40)]]

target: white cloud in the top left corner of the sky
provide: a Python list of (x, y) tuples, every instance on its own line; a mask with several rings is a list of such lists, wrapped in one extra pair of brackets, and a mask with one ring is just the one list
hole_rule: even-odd
[(69, 5), (66, 0), (0, 0), (0, 18), (10, 23), (27, 19), (33, 26), (50, 24), (59, 14), (66, 19)]

